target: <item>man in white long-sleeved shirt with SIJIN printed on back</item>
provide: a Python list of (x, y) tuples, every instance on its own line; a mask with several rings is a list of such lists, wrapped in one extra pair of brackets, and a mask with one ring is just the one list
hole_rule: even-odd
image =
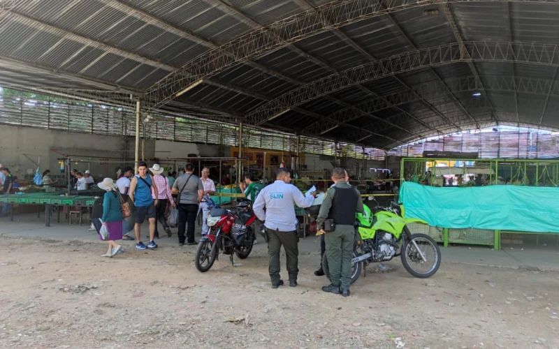
[[(276, 181), (260, 191), (254, 201), (254, 214), (264, 221), (266, 235), (268, 235), (268, 272), (272, 281), (272, 288), (278, 288), (284, 284), (279, 277), (279, 251), (282, 245), (285, 249), (286, 268), (289, 274), (289, 285), (297, 285), (298, 269), (298, 246), (297, 218), (295, 206), (307, 208), (314, 202), (314, 193), (307, 196), (299, 191), (296, 186), (289, 184), (291, 175), (285, 168), (276, 171)], [(266, 207), (266, 211), (264, 211)]]

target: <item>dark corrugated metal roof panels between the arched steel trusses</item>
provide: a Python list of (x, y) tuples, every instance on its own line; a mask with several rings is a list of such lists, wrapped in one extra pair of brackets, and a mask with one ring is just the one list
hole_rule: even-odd
[[(312, 6), (328, 2), (331, 0), (308, 1)], [(559, 10), (555, 4), (455, 1), (449, 6), (464, 40), (559, 45), (559, 30), (556, 30), (559, 29)], [(307, 7), (295, 0), (22, 1), (0, 20), (0, 59), (7, 62), (0, 64), (0, 82), (13, 84), (20, 80), (30, 86), (43, 84), (47, 88), (64, 85), (119, 88), (139, 94), (201, 54), (219, 50), (216, 48), (219, 45), (250, 34), (261, 25), (273, 24), (304, 10)], [(347, 6), (345, 10), (356, 11), (356, 7)], [(269, 35), (284, 34), (270, 32)], [(335, 70), (409, 52), (415, 50), (414, 47), (436, 47), (456, 40), (441, 4), (411, 6), (390, 15), (353, 22), (339, 31), (322, 31), (296, 40), (296, 47), (274, 47), (249, 61), (244, 59), (208, 77), (215, 81), (189, 91), (181, 101), (201, 103), (206, 109), (221, 110), (221, 114), (230, 111), (242, 115), (264, 105), (270, 98), (327, 77)], [(34, 69), (20, 70), (22, 64)], [(361, 86), (375, 94), (389, 96), (420, 84), (440, 85), (441, 79), (450, 81), (477, 74), (482, 82), (495, 76), (512, 75), (546, 81), (558, 78), (555, 66), (542, 64), (476, 61), (472, 66), (474, 71), (464, 62), (411, 70), (396, 77), (364, 81)], [(291, 111), (273, 119), (268, 126), (301, 131), (317, 122), (316, 118), (308, 117), (309, 113), (327, 116), (341, 110), (343, 103), (360, 107), (363, 102), (375, 99), (353, 82), (349, 87), (335, 90), (331, 98), (319, 94), (300, 103), (298, 107), (306, 110), (306, 115)], [(399, 101), (400, 104), (374, 114), (404, 120), (402, 127), (421, 135), (456, 129), (453, 124), (470, 127), (478, 121), (481, 126), (495, 122), (493, 117), (502, 122), (536, 126), (541, 119), (542, 126), (559, 127), (556, 117), (559, 102), (555, 96), (548, 98), (545, 94), (523, 91), (516, 94), (514, 91), (481, 92), (481, 97), (488, 98), (484, 101), (489, 103), (475, 103), (471, 91), (458, 91), (453, 96), (415, 96), (410, 103)], [(192, 109), (180, 103), (172, 108), (175, 111), (180, 108), (188, 112), (198, 110), (198, 113), (204, 109)], [(402, 111), (407, 112), (404, 118)], [(442, 119), (440, 114), (450, 121)], [(354, 126), (366, 126), (370, 122), (375, 124), (374, 118), (359, 116), (359, 113), (348, 121)], [(436, 130), (425, 124), (437, 125), (433, 127)], [(390, 137), (400, 140), (416, 137), (387, 126), (384, 123), (382, 127)], [(355, 132), (355, 128), (340, 126), (327, 135), (353, 139)], [(378, 146), (389, 144), (389, 140), (378, 137), (366, 142)]]

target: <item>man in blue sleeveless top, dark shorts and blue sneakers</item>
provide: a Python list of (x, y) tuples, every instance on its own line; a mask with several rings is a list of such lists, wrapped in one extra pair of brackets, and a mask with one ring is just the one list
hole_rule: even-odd
[(130, 200), (136, 206), (136, 225), (134, 225), (134, 232), (136, 232), (136, 248), (145, 250), (145, 245), (140, 240), (140, 227), (144, 223), (145, 217), (150, 221), (150, 244), (147, 248), (157, 248), (157, 244), (153, 241), (155, 235), (155, 207), (159, 200), (152, 198), (152, 188), (154, 196), (159, 198), (159, 191), (157, 186), (153, 185), (154, 180), (151, 174), (147, 174), (147, 164), (144, 162), (138, 163), (138, 174), (132, 177), (130, 181), (129, 196)]

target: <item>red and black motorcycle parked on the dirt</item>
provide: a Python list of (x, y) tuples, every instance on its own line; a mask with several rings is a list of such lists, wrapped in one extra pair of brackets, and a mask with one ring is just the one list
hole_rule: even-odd
[(240, 259), (247, 258), (254, 244), (254, 230), (250, 225), (255, 220), (251, 202), (246, 199), (238, 202), (236, 212), (219, 207), (210, 209), (210, 233), (200, 239), (196, 248), (194, 264), (198, 272), (208, 272), (220, 252), (229, 255), (233, 266), (233, 254)]

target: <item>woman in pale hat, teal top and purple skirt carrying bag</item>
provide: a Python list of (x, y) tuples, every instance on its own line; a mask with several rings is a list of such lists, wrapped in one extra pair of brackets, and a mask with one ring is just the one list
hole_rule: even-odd
[(116, 240), (122, 240), (122, 209), (119, 193), (111, 178), (103, 179), (97, 186), (106, 191), (103, 197), (103, 216), (101, 221), (96, 221), (99, 239), (108, 242), (108, 252), (101, 257), (112, 257), (119, 253), (122, 246)]

